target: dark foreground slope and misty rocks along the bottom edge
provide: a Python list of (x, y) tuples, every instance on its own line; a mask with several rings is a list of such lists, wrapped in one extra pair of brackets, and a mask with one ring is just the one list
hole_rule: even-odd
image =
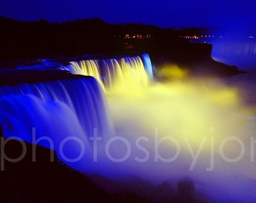
[(81, 174), (59, 161), (55, 151), (25, 141), (2, 137), (0, 151), (3, 158), (0, 164), (1, 202), (209, 201), (207, 198), (198, 198), (192, 181), (178, 182), (177, 193), (167, 182), (155, 186), (136, 177), (107, 180), (97, 174)]

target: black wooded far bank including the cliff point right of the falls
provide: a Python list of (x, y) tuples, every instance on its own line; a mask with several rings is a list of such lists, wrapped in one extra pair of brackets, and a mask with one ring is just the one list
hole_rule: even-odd
[[(140, 23), (108, 24), (99, 19), (48, 23), (0, 17), (0, 68), (15, 68), (29, 59), (149, 53), (157, 67), (177, 63), (194, 73), (233, 74), (212, 59), (212, 44), (190, 43), (184, 36), (207, 35), (208, 28), (163, 29)], [(207, 68), (206, 68), (207, 67)]]

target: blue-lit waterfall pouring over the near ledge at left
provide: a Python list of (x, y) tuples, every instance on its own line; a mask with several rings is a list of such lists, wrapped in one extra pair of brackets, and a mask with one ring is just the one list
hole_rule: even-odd
[[(105, 95), (94, 77), (1, 86), (0, 109), (5, 137), (31, 143), (43, 138), (46, 141), (39, 144), (56, 150), (66, 138), (88, 147), (95, 129), (102, 138), (114, 131)], [(80, 150), (72, 144), (67, 149), (69, 156)]]

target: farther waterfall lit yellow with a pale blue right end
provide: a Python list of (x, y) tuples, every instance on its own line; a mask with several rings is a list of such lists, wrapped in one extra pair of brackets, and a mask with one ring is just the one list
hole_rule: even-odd
[(65, 70), (72, 74), (84, 74), (96, 77), (106, 88), (122, 83), (139, 83), (148, 85), (153, 78), (151, 59), (147, 53), (140, 56), (123, 57), (120, 59), (87, 59), (73, 61)]

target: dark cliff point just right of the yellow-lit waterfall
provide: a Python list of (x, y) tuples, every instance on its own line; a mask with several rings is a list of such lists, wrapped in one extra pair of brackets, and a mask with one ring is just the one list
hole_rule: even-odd
[(151, 61), (158, 69), (170, 64), (178, 65), (192, 76), (227, 77), (243, 73), (234, 65), (212, 59), (212, 44), (184, 43), (169, 50), (156, 50), (151, 53)]

